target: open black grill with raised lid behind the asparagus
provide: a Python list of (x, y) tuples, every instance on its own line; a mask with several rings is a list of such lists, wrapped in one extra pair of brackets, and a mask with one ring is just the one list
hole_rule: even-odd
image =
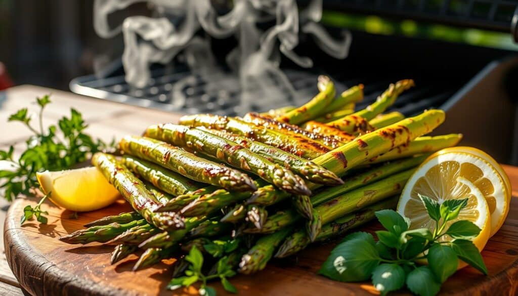
[[(324, 8), (335, 13), (335, 19), (336, 13), (342, 12), (378, 15), (394, 22), (411, 19), (420, 24), (506, 32), (518, 40), (516, 0), (328, 0), (324, 1)], [(343, 29), (340, 24), (327, 25), (335, 33)], [(209, 75), (211, 81), (205, 81), (199, 75), (192, 75), (179, 61), (174, 67), (154, 65), (152, 78), (143, 89), (128, 86), (120, 61), (96, 76), (74, 79), (70, 89), (106, 100), (174, 112), (241, 115), (250, 109), (266, 111), (305, 103), (316, 92), (319, 74), (332, 77), (339, 91), (357, 83), (365, 84), (366, 97), (358, 108), (376, 100), (389, 83), (412, 78), (416, 88), (402, 94), (391, 110), (411, 116), (427, 108), (444, 109), (448, 120), (436, 133), (462, 132), (463, 145), (484, 149), (500, 162), (518, 164), (516, 51), (348, 29), (353, 29), (353, 43), (346, 60), (327, 57), (311, 40), (306, 40), (298, 53), (312, 57), (315, 67), (301, 69), (289, 61), (281, 63), (296, 93), (270, 100), (272, 104), (258, 101), (248, 110), (236, 107), (241, 95), (239, 89), (206, 90), (208, 82), (219, 83), (221, 76)], [(214, 50), (222, 51), (224, 57), (228, 45), (219, 47), (217, 41), (214, 44)], [(177, 100), (178, 96), (183, 100)]]

